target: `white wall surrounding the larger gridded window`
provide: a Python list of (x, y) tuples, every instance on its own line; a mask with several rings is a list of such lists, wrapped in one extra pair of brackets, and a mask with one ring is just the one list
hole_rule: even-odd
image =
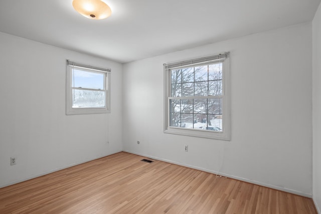
[[(163, 133), (163, 63), (225, 51), (231, 141)], [(125, 64), (124, 150), (311, 196), (311, 85), (310, 23)]]

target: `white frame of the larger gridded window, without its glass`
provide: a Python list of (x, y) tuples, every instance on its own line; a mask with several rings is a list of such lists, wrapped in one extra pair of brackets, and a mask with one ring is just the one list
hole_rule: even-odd
[[(216, 62), (222, 62), (222, 132), (189, 129), (181, 127), (170, 127), (170, 99), (171, 96), (171, 70), (178, 68), (187, 68), (193, 66), (210, 65)], [(180, 62), (164, 64), (164, 132), (169, 134), (187, 135), (194, 137), (204, 137), (211, 139), (230, 140), (230, 53), (226, 52), (219, 55), (203, 57)], [(213, 96), (216, 98), (217, 96)], [(183, 97), (182, 97), (183, 98)], [(198, 97), (196, 97), (198, 98)]]

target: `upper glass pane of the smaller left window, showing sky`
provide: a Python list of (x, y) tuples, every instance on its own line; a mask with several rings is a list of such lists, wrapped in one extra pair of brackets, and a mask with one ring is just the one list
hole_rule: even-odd
[(104, 90), (104, 77), (102, 73), (73, 69), (72, 87)]

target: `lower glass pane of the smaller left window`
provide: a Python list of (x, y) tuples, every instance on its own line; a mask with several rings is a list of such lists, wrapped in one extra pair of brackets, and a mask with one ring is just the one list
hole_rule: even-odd
[(90, 90), (72, 90), (72, 107), (88, 108), (88, 107), (105, 107), (105, 92)]

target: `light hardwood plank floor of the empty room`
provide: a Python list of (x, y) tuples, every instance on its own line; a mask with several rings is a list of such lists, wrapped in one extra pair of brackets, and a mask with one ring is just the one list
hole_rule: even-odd
[(0, 189), (0, 213), (317, 213), (312, 199), (120, 152)]

